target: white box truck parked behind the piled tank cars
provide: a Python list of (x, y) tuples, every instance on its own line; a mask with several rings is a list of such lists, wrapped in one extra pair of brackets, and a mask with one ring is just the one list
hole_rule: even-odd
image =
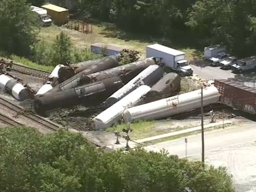
[(159, 58), (161, 62), (174, 70), (180, 76), (193, 74), (190, 63), (185, 60), (185, 53), (161, 44), (151, 44), (146, 46), (146, 57)]

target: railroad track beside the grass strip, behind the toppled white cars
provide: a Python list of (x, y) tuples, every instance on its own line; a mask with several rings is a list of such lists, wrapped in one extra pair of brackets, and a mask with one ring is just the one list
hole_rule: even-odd
[(40, 78), (47, 78), (48, 75), (50, 74), (49, 72), (43, 71), (43, 70), (38, 70), (34, 68), (30, 68), (27, 66), (23, 66), (20, 64), (12, 63), (11, 67), (12, 71), (17, 71), (23, 74), (31, 75), (31, 76), (36, 76)]

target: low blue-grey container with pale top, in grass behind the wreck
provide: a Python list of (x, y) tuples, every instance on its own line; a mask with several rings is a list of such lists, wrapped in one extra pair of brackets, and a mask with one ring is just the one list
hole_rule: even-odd
[(115, 55), (119, 54), (120, 51), (123, 48), (111, 45), (111, 44), (105, 44), (105, 43), (94, 43), (90, 45), (90, 51), (98, 54), (103, 54), (103, 55)]

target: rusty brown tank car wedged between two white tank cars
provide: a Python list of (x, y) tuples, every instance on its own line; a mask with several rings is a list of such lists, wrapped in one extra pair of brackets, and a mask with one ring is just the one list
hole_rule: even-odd
[(175, 72), (165, 74), (145, 95), (144, 101), (150, 102), (171, 96), (180, 90), (180, 76)]

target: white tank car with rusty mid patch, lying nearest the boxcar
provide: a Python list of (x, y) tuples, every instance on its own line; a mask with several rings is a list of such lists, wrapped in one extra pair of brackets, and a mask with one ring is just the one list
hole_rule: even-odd
[[(220, 94), (215, 86), (203, 89), (203, 106), (218, 102)], [(123, 112), (125, 121), (160, 119), (186, 112), (201, 106), (201, 89), (163, 98), (146, 104), (127, 108)]]

